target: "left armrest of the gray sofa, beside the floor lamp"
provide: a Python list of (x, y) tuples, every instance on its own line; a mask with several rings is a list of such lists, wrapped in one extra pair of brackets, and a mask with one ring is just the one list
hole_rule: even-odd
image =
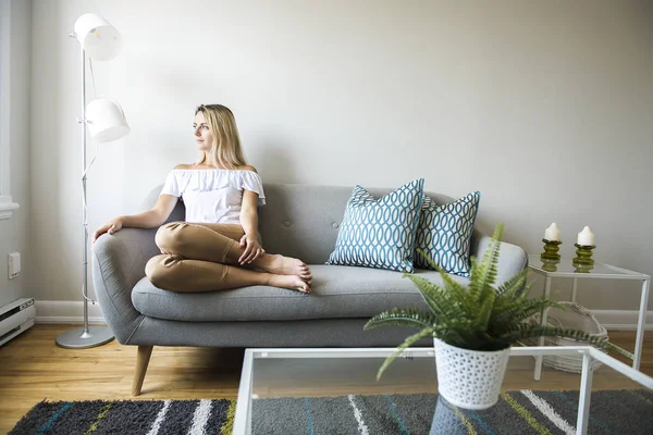
[(107, 324), (127, 344), (143, 320), (132, 303), (132, 289), (145, 276), (145, 264), (160, 253), (157, 228), (123, 228), (93, 244), (93, 284)]

